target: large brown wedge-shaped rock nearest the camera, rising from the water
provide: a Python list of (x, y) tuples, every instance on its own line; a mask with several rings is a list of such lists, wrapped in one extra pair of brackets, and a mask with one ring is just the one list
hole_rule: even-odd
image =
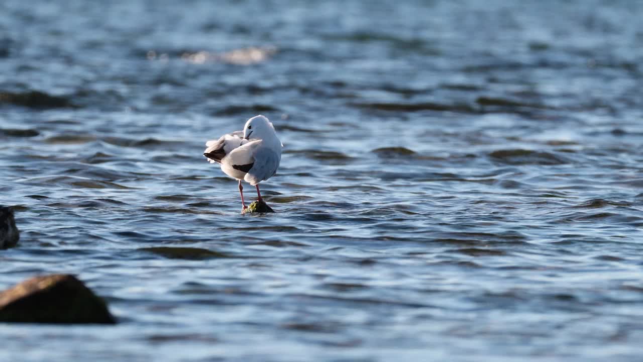
[(114, 324), (105, 302), (69, 274), (36, 276), (0, 292), (0, 322)]

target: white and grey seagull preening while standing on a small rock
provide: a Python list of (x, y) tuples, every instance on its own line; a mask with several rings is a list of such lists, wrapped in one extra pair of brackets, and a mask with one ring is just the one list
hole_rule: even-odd
[(248, 207), (243, 199), (241, 180), (257, 187), (258, 201), (264, 201), (259, 192), (259, 182), (275, 175), (284, 147), (275, 133), (275, 127), (266, 117), (252, 117), (243, 131), (222, 135), (218, 140), (206, 142), (205, 146), (203, 155), (208, 161), (220, 164), (226, 175), (239, 180), (243, 211)]

